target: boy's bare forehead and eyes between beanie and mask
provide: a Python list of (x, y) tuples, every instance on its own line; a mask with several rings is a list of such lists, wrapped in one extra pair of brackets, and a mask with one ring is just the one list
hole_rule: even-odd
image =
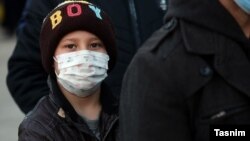
[[(94, 34), (86, 31), (74, 31), (66, 34), (58, 43), (54, 56), (80, 50), (90, 50), (107, 54), (103, 42)], [(54, 61), (55, 71), (58, 73), (57, 62)]]

